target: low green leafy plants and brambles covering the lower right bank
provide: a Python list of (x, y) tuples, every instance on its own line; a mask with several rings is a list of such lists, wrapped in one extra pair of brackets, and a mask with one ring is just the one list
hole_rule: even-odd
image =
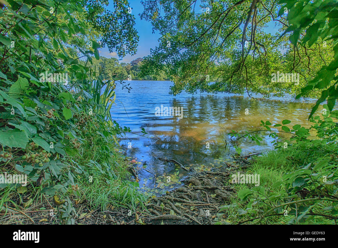
[[(261, 121), (261, 126), (270, 132), (269, 136), (275, 138), (277, 151), (282, 149), (284, 151), (280, 153), (292, 154), (286, 160), (291, 160), (296, 167), (284, 172), (279, 181), (240, 190), (238, 197), (248, 202), (245, 211), (250, 218), (245, 217), (258, 223), (266, 217), (286, 212), (294, 216), (289, 220), (291, 224), (311, 221), (314, 216), (338, 219), (338, 126), (334, 122), (337, 118), (338, 110), (327, 111), (323, 118), (311, 117), (310, 122), (314, 124), (310, 128), (294, 125), (291, 129), (288, 127), (291, 123), (289, 120), (273, 126), (268, 121)], [(281, 130), (276, 130), (277, 127)], [(287, 142), (281, 141), (278, 132), (292, 136)], [(238, 136), (236, 133), (234, 135)], [(247, 133), (245, 137), (259, 143), (256, 134)], [(253, 205), (257, 208), (254, 209)]]

